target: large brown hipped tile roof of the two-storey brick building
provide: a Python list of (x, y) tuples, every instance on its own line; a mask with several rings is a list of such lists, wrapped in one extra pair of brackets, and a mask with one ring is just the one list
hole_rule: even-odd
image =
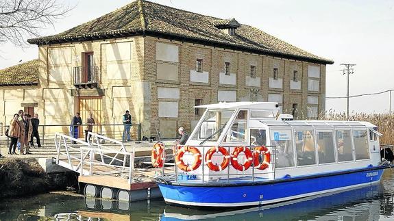
[(150, 1), (136, 0), (123, 8), (60, 34), (29, 39), (28, 42), (40, 45), (135, 35), (162, 36), (295, 60), (322, 64), (334, 63), (332, 60), (308, 53), (249, 25), (241, 24), (236, 29), (235, 36), (225, 34), (217, 27), (222, 23), (229, 25), (234, 21), (235, 19), (214, 18)]

